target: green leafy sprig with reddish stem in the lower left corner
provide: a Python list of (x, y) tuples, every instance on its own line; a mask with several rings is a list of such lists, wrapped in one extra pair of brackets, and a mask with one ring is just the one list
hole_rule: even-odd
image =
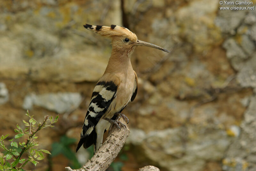
[[(33, 116), (30, 116), (28, 111), (26, 116), (29, 117), (28, 122), (23, 120), (26, 128), (23, 130), (17, 124), (17, 129), (14, 131), (17, 133), (14, 138), (8, 140), (11, 142), (10, 146), (7, 147), (4, 145), (4, 139), (8, 135), (1, 136), (0, 139), (0, 148), (4, 150), (3, 153), (0, 152), (0, 170), (6, 171), (24, 171), (23, 167), (28, 163), (32, 162), (35, 166), (39, 163), (37, 160), (44, 159), (44, 153), (51, 154), (48, 150), (38, 150), (35, 146), (38, 146), (39, 143), (35, 141), (38, 136), (36, 133), (46, 127), (54, 127), (52, 124), (58, 121), (58, 116), (55, 119), (52, 119), (52, 116), (44, 116), (43, 123), (37, 122)], [(26, 142), (19, 142), (18, 139), (24, 135), (27, 135), (28, 138)], [(22, 158), (23, 154), (26, 153), (27, 157)], [(20, 163), (20, 164), (19, 164)]]

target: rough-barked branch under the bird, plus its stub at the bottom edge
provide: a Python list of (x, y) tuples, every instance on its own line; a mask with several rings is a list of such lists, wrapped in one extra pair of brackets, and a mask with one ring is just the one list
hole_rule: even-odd
[[(114, 159), (116, 159), (117, 154), (124, 146), (124, 143), (130, 134), (130, 129), (122, 117), (119, 119), (119, 121), (122, 122), (126, 128), (121, 126), (121, 130), (119, 131), (119, 129), (114, 125), (112, 128), (110, 128), (110, 132), (105, 142), (83, 167), (74, 170), (70, 167), (65, 167), (66, 171), (105, 171), (114, 161)], [(140, 171), (146, 171), (149, 168), (151, 169), (150, 171), (159, 171), (157, 167), (146, 167), (140, 168)], [(146, 168), (146, 170), (144, 168)]]

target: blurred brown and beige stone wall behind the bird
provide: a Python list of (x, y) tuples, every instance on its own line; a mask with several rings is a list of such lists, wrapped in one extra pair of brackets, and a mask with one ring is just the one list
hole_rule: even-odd
[[(39, 133), (42, 148), (51, 151), (64, 136), (78, 142), (111, 52), (83, 24), (116, 24), (172, 51), (138, 47), (132, 55), (139, 90), (123, 112), (131, 134), (115, 161), (121, 170), (256, 170), (255, 10), (220, 10), (219, 0), (0, 2), (1, 134), (11, 138), (29, 109), (39, 121), (60, 114)], [(82, 165), (89, 152), (76, 156)], [(60, 154), (36, 170), (69, 165)]]

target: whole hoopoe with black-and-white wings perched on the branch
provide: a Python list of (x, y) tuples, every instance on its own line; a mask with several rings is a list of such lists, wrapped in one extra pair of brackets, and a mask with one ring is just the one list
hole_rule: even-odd
[(107, 68), (92, 92), (84, 124), (77, 145), (76, 152), (83, 145), (84, 148), (94, 144), (96, 152), (103, 141), (103, 134), (109, 129), (111, 123), (116, 124), (120, 130), (121, 122), (116, 117), (123, 117), (128, 123), (129, 119), (122, 114), (124, 107), (133, 101), (138, 90), (138, 77), (132, 69), (130, 57), (136, 46), (148, 46), (169, 52), (157, 45), (143, 42), (125, 27), (116, 25), (92, 26), (85, 24), (86, 29), (92, 30), (101, 36), (111, 39), (112, 52)]

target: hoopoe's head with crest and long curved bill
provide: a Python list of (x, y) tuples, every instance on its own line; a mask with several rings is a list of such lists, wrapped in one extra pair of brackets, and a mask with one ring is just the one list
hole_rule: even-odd
[(116, 25), (108, 26), (92, 26), (85, 24), (85, 28), (98, 33), (104, 37), (109, 37), (112, 40), (112, 48), (118, 51), (132, 52), (135, 46), (148, 46), (165, 52), (169, 52), (155, 44), (147, 43), (138, 40), (137, 36), (125, 27)]

